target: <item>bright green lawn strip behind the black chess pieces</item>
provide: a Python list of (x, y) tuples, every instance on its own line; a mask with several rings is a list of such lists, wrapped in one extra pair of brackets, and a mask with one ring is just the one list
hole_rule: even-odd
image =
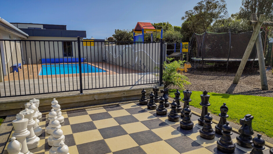
[[(174, 98), (174, 92), (176, 89), (169, 91), (170, 97)], [(183, 90), (179, 90), (181, 98), (184, 97)], [(191, 106), (202, 109), (200, 106), (202, 92), (193, 91), (191, 94), (192, 101)], [(253, 130), (262, 132), (263, 134), (273, 137), (273, 98), (261, 97), (261, 96), (249, 96), (249, 95), (232, 95), (232, 94), (217, 94), (208, 93), (210, 95), (209, 112), (218, 115), (220, 113), (220, 107), (223, 103), (227, 104), (229, 111), (229, 121), (240, 123), (240, 118), (243, 118), (246, 114), (254, 116), (252, 121)], [(182, 101), (182, 99), (181, 99)]]

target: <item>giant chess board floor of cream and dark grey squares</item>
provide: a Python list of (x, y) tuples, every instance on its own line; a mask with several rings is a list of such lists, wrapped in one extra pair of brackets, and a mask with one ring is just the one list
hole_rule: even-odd
[[(170, 107), (167, 110), (169, 113)], [(216, 134), (213, 140), (201, 138), (199, 130), (202, 126), (198, 125), (199, 117), (194, 114), (191, 117), (194, 123), (192, 130), (181, 129), (180, 121), (170, 122), (167, 115), (159, 116), (156, 110), (149, 110), (138, 101), (67, 111), (62, 115), (65, 119), (61, 129), (70, 154), (222, 153), (216, 147), (221, 135)], [(51, 147), (47, 143), (47, 138), (50, 135), (45, 132), (48, 123), (48, 114), (43, 114), (39, 124), (43, 129), (42, 135), (39, 136), (40, 144), (30, 152), (49, 153)], [(215, 125), (213, 123), (212, 127)], [(234, 132), (231, 135), (235, 144), (237, 135)], [(7, 146), (4, 154), (8, 153), (6, 149)], [(243, 148), (236, 144), (235, 153), (250, 153), (251, 150), (252, 148)], [(266, 147), (263, 152), (269, 153), (269, 148)]]

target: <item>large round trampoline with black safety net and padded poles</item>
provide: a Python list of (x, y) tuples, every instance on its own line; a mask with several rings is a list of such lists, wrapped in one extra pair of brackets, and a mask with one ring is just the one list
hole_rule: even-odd
[[(192, 69), (195, 70), (199, 62), (203, 65), (206, 61), (227, 62), (227, 70), (229, 62), (240, 62), (245, 53), (245, 49), (249, 43), (253, 31), (245, 33), (211, 33), (205, 32), (202, 34), (193, 34), (190, 41), (190, 53), (192, 60)], [(265, 31), (261, 31), (261, 34)], [(262, 35), (262, 42), (264, 42), (264, 35)], [(267, 38), (267, 42), (269, 42)], [(196, 51), (193, 51), (193, 44), (196, 44)], [(263, 43), (264, 49), (264, 43)], [(269, 48), (268, 48), (269, 49)], [(194, 57), (193, 53), (196, 53)], [(269, 52), (267, 52), (268, 54)], [(256, 44), (251, 51), (248, 61), (257, 61)], [(196, 64), (196, 67), (194, 67)], [(194, 72), (194, 71), (193, 71)]]

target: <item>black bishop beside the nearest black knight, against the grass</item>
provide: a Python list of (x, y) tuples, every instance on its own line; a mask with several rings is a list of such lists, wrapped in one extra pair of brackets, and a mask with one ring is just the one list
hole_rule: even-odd
[(227, 122), (227, 118), (229, 115), (227, 114), (229, 108), (226, 106), (226, 103), (223, 103), (223, 105), (220, 107), (221, 113), (219, 113), (220, 121), (218, 125), (215, 126), (215, 132), (217, 134), (222, 134), (222, 126)]

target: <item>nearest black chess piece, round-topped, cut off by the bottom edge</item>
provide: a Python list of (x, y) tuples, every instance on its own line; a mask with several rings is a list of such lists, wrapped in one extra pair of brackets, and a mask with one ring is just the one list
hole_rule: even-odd
[(261, 137), (261, 134), (257, 134), (257, 137), (253, 138), (253, 143), (251, 144), (253, 149), (250, 154), (263, 154), (263, 150), (265, 149), (265, 140)]

